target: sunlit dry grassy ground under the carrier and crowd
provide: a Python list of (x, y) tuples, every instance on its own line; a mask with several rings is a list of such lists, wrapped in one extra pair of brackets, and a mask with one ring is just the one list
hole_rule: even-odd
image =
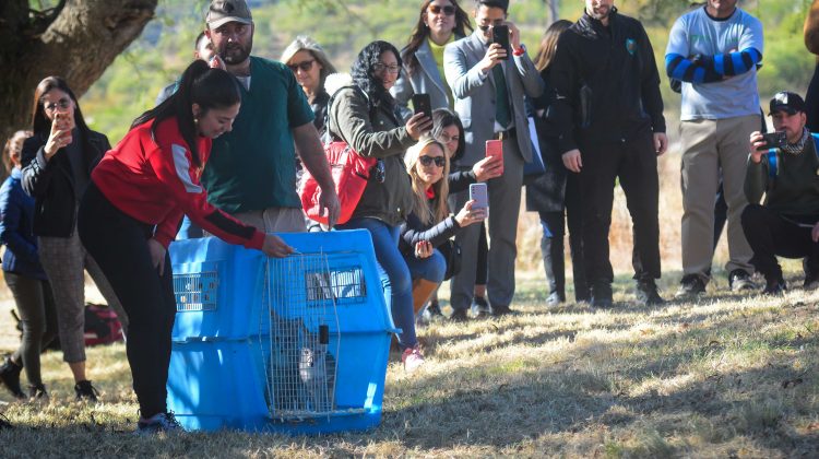
[[(793, 267), (792, 267), (793, 268)], [(793, 269), (791, 284), (799, 280)], [(670, 297), (678, 276), (664, 284)], [(122, 345), (90, 350), (103, 402), (71, 401), (59, 353), (47, 404), (10, 402), (2, 456), (798, 457), (819, 450), (819, 292), (713, 291), (656, 309), (616, 283), (613, 310), (547, 309), (520, 280), (523, 314), (420, 330), (427, 365), (391, 363), (382, 425), (365, 434), (131, 435), (136, 405)], [(3, 316), (3, 315), (0, 315)]]

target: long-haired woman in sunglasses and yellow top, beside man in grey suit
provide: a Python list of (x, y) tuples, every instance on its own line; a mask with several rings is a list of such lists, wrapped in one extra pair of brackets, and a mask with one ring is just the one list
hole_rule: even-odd
[(413, 115), (407, 103), (414, 94), (429, 94), (432, 109), (454, 107), (452, 90), (443, 78), (443, 48), (467, 31), (472, 32), (470, 16), (456, 0), (422, 3), (410, 43), (401, 51), (404, 72), (390, 90), (404, 119)]

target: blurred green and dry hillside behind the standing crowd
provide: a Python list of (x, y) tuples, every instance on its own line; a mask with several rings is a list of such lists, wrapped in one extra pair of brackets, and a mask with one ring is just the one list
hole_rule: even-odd
[[(251, 0), (256, 22), (253, 54), (277, 59), (297, 35), (316, 38), (340, 71), (347, 71), (357, 51), (373, 39), (385, 39), (402, 48), (418, 17), (420, 1), (407, 0)], [(467, 10), (472, 1), (462, 1)], [(204, 0), (161, 0), (156, 19), (82, 98), (91, 126), (105, 132), (111, 142), (126, 133), (131, 121), (153, 106), (157, 92), (174, 81), (192, 57), (193, 39), (202, 30)], [(679, 269), (679, 152), (676, 149), (679, 95), (668, 87), (663, 56), (668, 31), (676, 17), (692, 8), (687, 0), (618, 0), (620, 12), (640, 17), (651, 37), (661, 69), (669, 154), (661, 158), (661, 242), (664, 270)], [(760, 97), (768, 101), (776, 91), (805, 93), (814, 71), (815, 57), (803, 43), (803, 23), (809, 0), (750, 0), (740, 7), (764, 25), (765, 49), (759, 73)], [(582, 0), (562, 0), (560, 16), (577, 20)], [(510, 20), (521, 31), (534, 55), (539, 37), (548, 26), (543, 0), (512, 0)], [(619, 271), (630, 270), (631, 226), (625, 200), (618, 191), (612, 227), (612, 258)], [(523, 214), (519, 229), (519, 269), (539, 268), (539, 225), (534, 214)], [(715, 259), (725, 259), (721, 244)], [(719, 268), (717, 268), (719, 270)], [(719, 273), (717, 273), (719, 274)]]

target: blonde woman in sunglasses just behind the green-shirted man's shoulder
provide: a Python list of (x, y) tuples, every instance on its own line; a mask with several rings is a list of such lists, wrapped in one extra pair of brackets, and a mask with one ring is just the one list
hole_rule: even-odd
[(330, 102), (330, 94), (324, 90), (327, 75), (335, 73), (335, 67), (316, 43), (314, 39), (300, 35), (287, 45), (282, 52), (282, 59), (296, 76), (296, 81), (305, 92), (307, 102), (316, 115), (312, 123), (319, 131), (324, 129), (324, 114)]

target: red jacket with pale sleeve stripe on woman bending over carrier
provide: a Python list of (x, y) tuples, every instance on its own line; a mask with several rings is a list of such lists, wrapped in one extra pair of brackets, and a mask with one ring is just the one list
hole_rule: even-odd
[[(153, 120), (131, 129), (109, 150), (91, 175), (105, 197), (127, 215), (156, 225), (154, 237), (166, 248), (174, 240), (182, 214), (206, 232), (230, 244), (261, 249), (264, 233), (248, 226), (207, 202), (199, 183), (188, 143), (176, 118), (168, 118), (151, 134)], [(211, 139), (199, 138), (202, 167)]]

